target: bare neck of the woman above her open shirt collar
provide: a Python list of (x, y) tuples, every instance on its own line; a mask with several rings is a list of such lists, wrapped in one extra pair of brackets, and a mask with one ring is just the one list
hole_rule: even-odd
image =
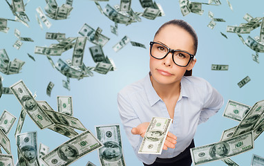
[(159, 84), (153, 79), (152, 75), (150, 76), (150, 79), (153, 88), (162, 100), (178, 97), (178, 95), (180, 95), (180, 81), (173, 84)]

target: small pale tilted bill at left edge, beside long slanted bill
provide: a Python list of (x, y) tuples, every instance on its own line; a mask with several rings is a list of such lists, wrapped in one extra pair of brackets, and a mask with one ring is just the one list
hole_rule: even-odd
[(0, 129), (8, 135), (10, 129), (12, 128), (13, 124), (17, 118), (13, 116), (8, 111), (4, 110), (1, 117), (0, 117)]

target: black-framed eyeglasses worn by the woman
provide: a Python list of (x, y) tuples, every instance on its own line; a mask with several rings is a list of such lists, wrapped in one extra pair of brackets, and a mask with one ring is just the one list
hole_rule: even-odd
[(187, 53), (184, 50), (173, 50), (158, 42), (150, 42), (149, 44), (151, 46), (151, 57), (154, 57), (155, 59), (163, 59), (167, 57), (169, 53), (172, 53), (172, 60), (178, 66), (188, 66), (188, 64), (191, 62), (191, 59), (194, 59), (195, 57), (195, 55)]

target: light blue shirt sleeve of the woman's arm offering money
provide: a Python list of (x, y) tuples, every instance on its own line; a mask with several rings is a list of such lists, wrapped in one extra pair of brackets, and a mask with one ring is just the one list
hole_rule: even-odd
[(143, 163), (148, 165), (154, 163), (157, 155), (155, 154), (138, 154), (138, 150), (140, 148), (142, 137), (140, 135), (133, 135), (131, 133), (131, 129), (133, 127), (137, 127), (138, 124), (141, 124), (140, 118), (138, 118), (137, 114), (133, 110), (133, 107), (129, 102), (129, 97), (124, 98), (120, 93), (117, 94), (117, 105), (120, 113), (120, 118), (124, 127), (124, 131), (126, 132), (127, 138), (129, 138), (129, 142), (132, 145), (135, 155), (141, 160)]

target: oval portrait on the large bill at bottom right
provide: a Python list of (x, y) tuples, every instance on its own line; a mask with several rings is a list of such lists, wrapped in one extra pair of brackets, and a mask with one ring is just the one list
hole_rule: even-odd
[(218, 142), (209, 149), (211, 158), (223, 158), (229, 153), (230, 147), (226, 142)]

